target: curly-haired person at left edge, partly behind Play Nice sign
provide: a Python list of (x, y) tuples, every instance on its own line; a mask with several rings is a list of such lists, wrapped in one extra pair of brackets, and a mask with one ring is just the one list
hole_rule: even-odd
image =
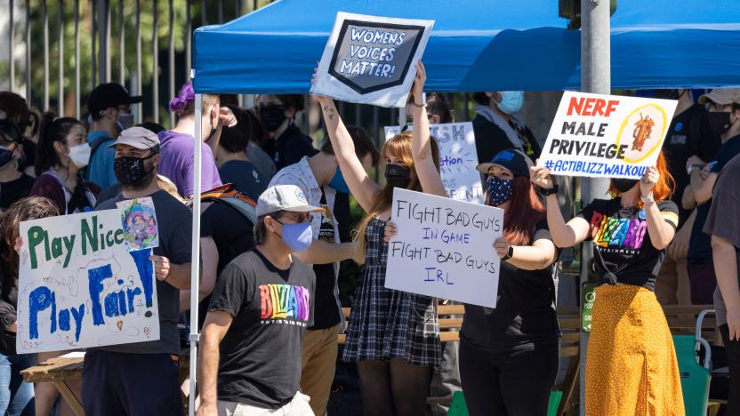
[(30, 367), (33, 356), (17, 354), (18, 252), (20, 221), (39, 220), (59, 215), (48, 198), (29, 197), (0, 213), (0, 414), (30, 415), (34, 412), (34, 388), (20, 378)]

